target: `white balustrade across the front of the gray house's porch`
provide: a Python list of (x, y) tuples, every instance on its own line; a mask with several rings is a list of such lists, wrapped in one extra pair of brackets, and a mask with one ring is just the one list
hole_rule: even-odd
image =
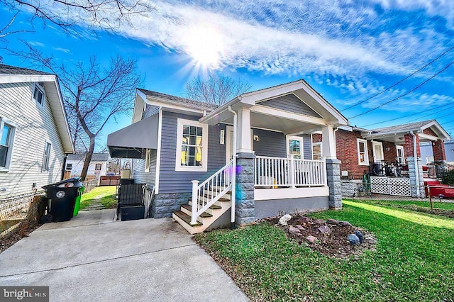
[(326, 186), (326, 161), (255, 157), (256, 187)]

